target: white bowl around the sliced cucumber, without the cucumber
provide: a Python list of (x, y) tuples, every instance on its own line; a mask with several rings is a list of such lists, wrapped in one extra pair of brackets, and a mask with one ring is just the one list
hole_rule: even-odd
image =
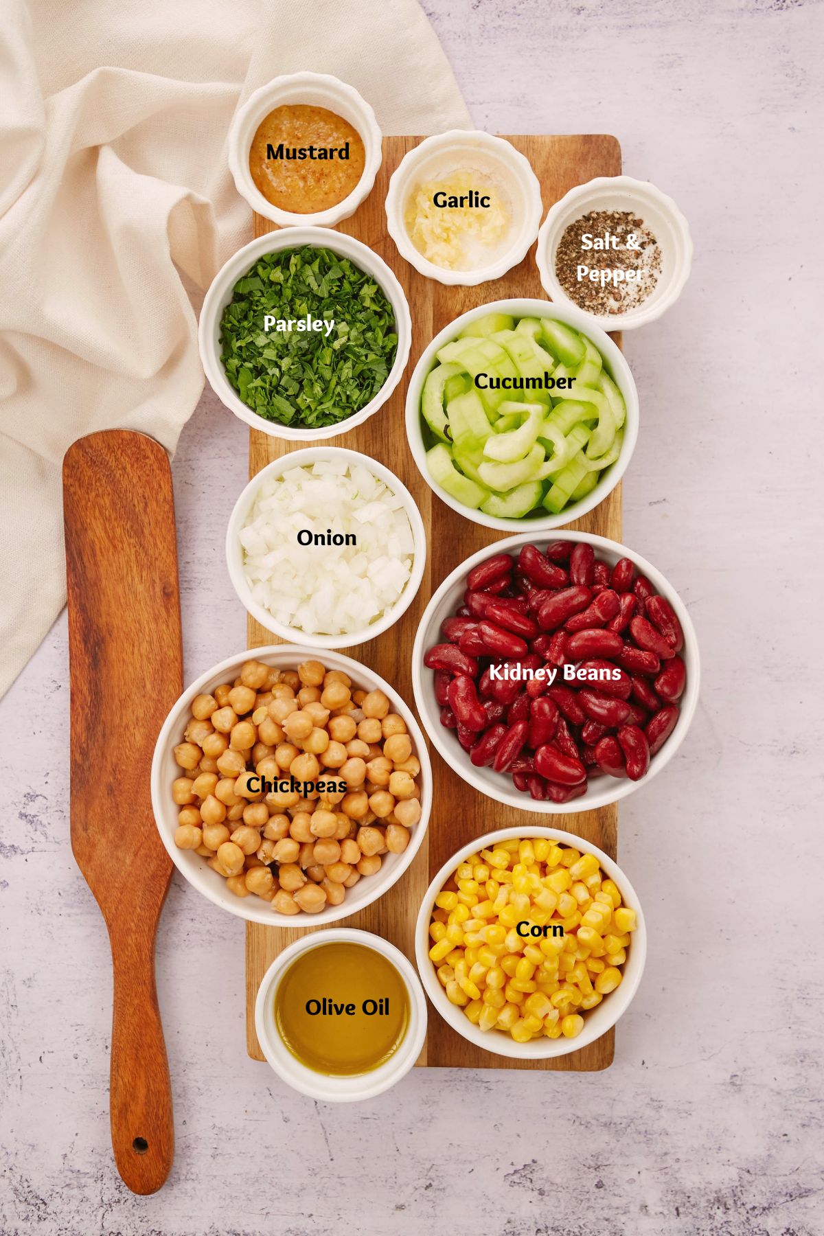
[[(621, 442), (621, 450), (618, 459), (614, 464), (610, 464), (609, 467), (604, 468), (598, 483), (586, 498), (581, 498), (579, 502), (568, 503), (557, 515), (551, 515), (549, 510), (546, 515), (536, 515), (532, 519), (500, 519), (498, 515), (487, 515), (483, 510), (465, 507), (463, 503), (458, 502), (457, 498), (453, 498), (451, 493), (447, 493), (446, 489), (444, 489), (430, 475), (426, 465), (426, 446), (424, 444), (420, 399), (424, 391), (424, 383), (429, 377), (430, 370), (435, 365), (435, 353), (440, 347), (444, 347), (445, 344), (457, 339), (458, 331), (466, 326), (467, 323), (474, 321), (476, 318), (483, 318), (488, 313), (505, 313), (515, 318), (552, 318), (556, 321), (566, 323), (566, 325), (583, 331), (583, 334), (587, 335), (603, 356), (607, 372), (624, 397), (624, 403), (626, 404), (626, 420), (624, 423), (624, 441)], [(493, 300), (486, 305), (476, 305), (474, 309), (469, 309), (467, 313), (461, 314), (460, 318), (456, 318), (448, 326), (445, 326), (444, 330), (439, 331), (429, 347), (421, 353), (418, 365), (413, 370), (413, 375), (406, 388), (406, 438), (409, 439), (409, 446), (413, 452), (413, 459), (418, 465), (418, 471), (426, 481), (426, 485), (439, 496), (441, 502), (446, 503), (447, 507), (451, 507), (452, 510), (457, 510), (457, 513), (463, 515), (466, 519), (471, 519), (473, 524), (483, 524), (484, 528), (497, 528), (499, 531), (505, 533), (514, 531), (520, 528), (528, 528), (535, 534), (547, 531), (550, 528), (561, 528), (563, 524), (571, 524), (573, 519), (579, 519), (582, 515), (586, 515), (588, 510), (593, 510), (594, 507), (597, 507), (599, 502), (603, 502), (607, 494), (615, 488), (620, 478), (624, 476), (624, 472), (629, 466), (629, 461), (633, 457), (633, 451), (635, 450), (637, 428), (637, 391), (635, 388), (635, 379), (633, 378), (630, 367), (626, 363), (620, 347), (618, 347), (618, 345), (612, 341), (609, 335), (607, 335), (598, 326), (584, 321), (579, 309), (567, 308), (567, 305), (547, 304), (546, 300)]]

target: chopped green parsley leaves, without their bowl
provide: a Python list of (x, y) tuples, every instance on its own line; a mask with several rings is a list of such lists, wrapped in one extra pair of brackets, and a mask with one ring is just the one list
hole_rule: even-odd
[[(320, 331), (264, 330), (263, 319), (322, 318)], [(329, 248), (264, 253), (237, 281), (220, 324), (226, 377), (282, 425), (335, 425), (376, 397), (398, 350), (390, 302), (371, 274)]]

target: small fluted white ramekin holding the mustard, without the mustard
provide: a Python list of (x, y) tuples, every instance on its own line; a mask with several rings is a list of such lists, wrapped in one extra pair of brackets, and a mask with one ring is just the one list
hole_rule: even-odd
[[(280, 210), (263, 197), (248, 166), (252, 138), (264, 120), (275, 108), (287, 104), (304, 104), (325, 108), (334, 111), (358, 131), (363, 141), (366, 161), (361, 179), (352, 192), (327, 210), (315, 210), (299, 214), (293, 210)], [(235, 185), (242, 198), (246, 198), (252, 210), (282, 227), (308, 226), (331, 227), (353, 215), (363, 199), (372, 190), (374, 178), (383, 157), (380, 130), (374, 119), (374, 111), (353, 87), (331, 77), (329, 73), (290, 73), (274, 78), (251, 95), (237, 111), (229, 130), (229, 168), (235, 178)]]

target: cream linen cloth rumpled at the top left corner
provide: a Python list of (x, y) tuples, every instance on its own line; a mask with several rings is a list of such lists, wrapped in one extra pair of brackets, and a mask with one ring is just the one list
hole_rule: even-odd
[[(0, 695), (65, 603), (61, 465), (126, 428), (173, 451), (195, 302), (250, 236), (238, 103), (334, 73), (385, 133), (471, 121), (416, 0), (12, 0), (0, 54)], [(116, 551), (116, 546), (112, 546)]]

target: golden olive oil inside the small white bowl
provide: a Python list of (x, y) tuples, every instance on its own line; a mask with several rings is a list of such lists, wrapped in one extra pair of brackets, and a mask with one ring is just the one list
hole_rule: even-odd
[(377, 1069), (403, 1042), (409, 995), (389, 958), (334, 941), (292, 963), (274, 994), (274, 1022), (306, 1068), (356, 1077)]

